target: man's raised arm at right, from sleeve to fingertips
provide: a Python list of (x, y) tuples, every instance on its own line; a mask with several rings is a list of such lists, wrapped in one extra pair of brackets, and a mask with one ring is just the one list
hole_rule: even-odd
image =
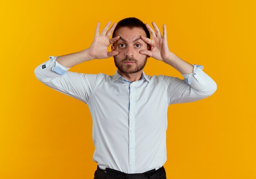
[(184, 80), (182, 80), (177, 77), (162, 76), (168, 87), (168, 104), (198, 101), (207, 98), (216, 92), (216, 82), (202, 71), (204, 68), (202, 65), (191, 65), (169, 50), (166, 25), (163, 25), (163, 36), (155, 22), (152, 22), (152, 25), (155, 32), (148, 24), (146, 24), (152, 39), (141, 36), (141, 39), (150, 45), (150, 50), (141, 50), (140, 53), (171, 65), (184, 77)]

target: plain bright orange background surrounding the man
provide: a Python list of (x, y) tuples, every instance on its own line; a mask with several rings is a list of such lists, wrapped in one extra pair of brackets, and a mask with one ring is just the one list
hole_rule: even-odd
[[(90, 47), (97, 22), (136, 17), (165, 23), (170, 51), (204, 66), (218, 85), (200, 101), (168, 109), (168, 179), (256, 178), (256, 3), (253, 0), (3, 1), (1, 179), (93, 179), (92, 119), (85, 103), (43, 85), (34, 69)], [(110, 48), (109, 48), (110, 49)], [(71, 72), (112, 75), (113, 58)], [(148, 75), (181, 74), (148, 58)]]

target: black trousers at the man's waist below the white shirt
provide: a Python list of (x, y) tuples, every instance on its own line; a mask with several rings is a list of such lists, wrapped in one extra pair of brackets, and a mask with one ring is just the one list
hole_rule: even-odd
[(164, 166), (158, 170), (149, 170), (144, 173), (124, 173), (112, 168), (106, 168), (103, 170), (97, 166), (97, 170), (94, 172), (94, 179), (166, 179), (166, 172)]

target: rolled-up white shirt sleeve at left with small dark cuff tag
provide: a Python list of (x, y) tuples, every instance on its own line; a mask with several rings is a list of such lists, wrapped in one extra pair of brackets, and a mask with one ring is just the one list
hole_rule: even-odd
[(50, 60), (38, 65), (34, 70), (36, 78), (48, 87), (87, 104), (103, 76), (69, 72), (70, 68), (58, 63), (57, 57), (49, 56)]

